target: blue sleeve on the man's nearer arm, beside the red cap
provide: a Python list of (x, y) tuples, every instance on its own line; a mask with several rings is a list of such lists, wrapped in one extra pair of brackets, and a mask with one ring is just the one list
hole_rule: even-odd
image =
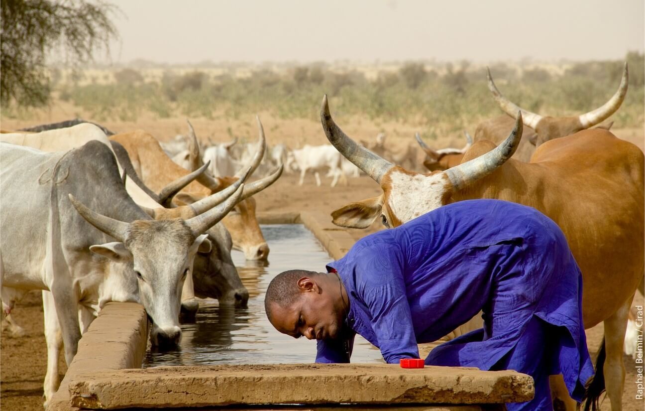
[(357, 291), (370, 310), (372, 330), (388, 364), (419, 358), (417, 337), (403, 279), (398, 246), (375, 244), (366, 248), (356, 265)]

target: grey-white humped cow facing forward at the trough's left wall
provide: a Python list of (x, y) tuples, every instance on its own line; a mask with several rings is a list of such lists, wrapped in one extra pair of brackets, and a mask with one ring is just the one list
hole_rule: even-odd
[[(197, 251), (211, 246), (203, 232), (235, 206), (243, 185), (201, 215), (153, 220), (124, 189), (103, 143), (55, 153), (0, 143), (0, 153), (2, 286), (50, 291), (43, 293), (48, 353), (64, 342), (69, 364), (81, 330), (107, 301), (142, 303), (152, 342), (177, 343), (184, 279)], [(46, 399), (58, 385), (52, 361), (57, 356), (48, 356)]]

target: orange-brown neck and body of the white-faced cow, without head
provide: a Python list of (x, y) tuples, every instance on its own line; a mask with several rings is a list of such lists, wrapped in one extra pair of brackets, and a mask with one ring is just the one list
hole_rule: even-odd
[[(463, 161), (494, 145), (476, 142)], [(492, 174), (453, 195), (453, 200), (495, 198), (537, 208), (564, 232), (584, 283), (585, 326), (602, 321), (631, 296), (610, 281), (642, 278), (645, 246), (644, 155), (601, 129), (547, 141), (531, 163), (510, 159)], [(599, 286), (607, 284), (606, 288)], [(632, 289), (633, 289), (632, 288)], [(599, 310), (597, 301), (604, 301)]]

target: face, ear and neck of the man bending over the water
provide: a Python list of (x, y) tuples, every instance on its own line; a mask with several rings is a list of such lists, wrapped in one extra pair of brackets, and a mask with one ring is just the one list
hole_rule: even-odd
[[(314, 279), (298, 280), (299, 297), (286, 308), (272, 306), (270, 322), (275, 328), (294, 338), (330, 339), (339, 335), (342, 310), (337, 309), (336, 293), (321, 288)], [(340, 287), (339, 287), (340, 289)], [(339, 294), (340, 296), (340, 294)]]

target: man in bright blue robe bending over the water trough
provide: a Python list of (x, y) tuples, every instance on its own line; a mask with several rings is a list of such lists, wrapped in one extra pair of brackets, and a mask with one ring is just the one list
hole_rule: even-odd
[(427, 365), (517, 370), (535, 397), (509, 410), (552, 410), (549, 376), (580, 401), (593, 374), (582, 323), (582, 277), (560, 228), (534, 208), (459, 201), (364, 237), (327, 273), (291, 270), (266, 291), (269, 321), (317, 339), (319, 363), (348, 363), (353, 337), (387, 363), (483, 312), (484, 328), (444, 343)]

